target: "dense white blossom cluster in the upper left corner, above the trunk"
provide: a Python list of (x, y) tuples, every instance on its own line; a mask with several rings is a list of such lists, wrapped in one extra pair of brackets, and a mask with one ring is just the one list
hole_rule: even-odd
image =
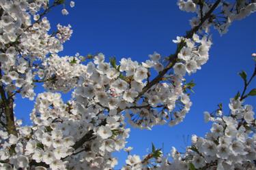
[[(70, 38), (70, 26), (57, 25), (57, 33), (49, 33), (50, 22), (40, 10), (47, 10), (48, 1), (1, 1), (1, 83), (9, 92), (20, 92), (31, 100), (35, 97), (33, 78), (39, 63), (63, 50)], [(35, 22), (33, 22), (33, 20)], [(33, 22), (33, 23), (32, 23)]]

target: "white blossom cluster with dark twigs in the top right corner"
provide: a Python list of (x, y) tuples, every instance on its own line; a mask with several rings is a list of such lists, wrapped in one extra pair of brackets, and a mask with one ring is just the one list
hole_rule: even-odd
[[(178, 0), (177, 5), (182, 11), (195, 12), (197, 14), (197, 17), (193, 17), (190, 20), (191, 27), (197, 27), (214, 3), (201, 0)], [(210, 32), (210, 26), (212, 25), (219, 33), (227, 33), (233, 21), (242, 20), (256, 11), (256, 3), (251, 0), (237, 1), (235, 4), (232, 1), (220, 1), (218, 6), (221, 8), (220, 12), (212, 15), (212, 18), (206, 20), (201, 26), (207, 33)]]

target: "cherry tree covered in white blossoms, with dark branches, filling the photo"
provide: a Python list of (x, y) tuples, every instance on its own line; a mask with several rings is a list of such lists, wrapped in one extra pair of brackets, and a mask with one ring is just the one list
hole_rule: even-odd
[[(142, 63), (131, 58), (107, 63), (102, 53), (58, 55), (72, 29), (58, 24), (50, 31), (46, 15), (57, 5), (68, 15), (67, 3), (74, 7), (74, 1), (64, 0), (0, 1), (1, 169), (113, 169), (117, 158), (111, 153), (131, 150), (124, 148), (130, 132), (126, 124), (151, 129), (183, 121), (195, 85), (184, 76), (208, 61), (210, 29), (227, 33), (233, 21), (256, 11), (254, 0), (179, 0), (180, 10), (195, 17), (190, 31), (173, 40), (173, 54), (154, 52)], [(152, 145), (144, 158), (128, 155), (122, 169), (255, 169), (254, 112), (243, 103), (256, 93), (248, 92), (256, 71), (251, 78), (240, 75), (244, 90), (231, 99), (230, 113), (224, 114), (222, 105), (205, 112), (205, 120), (212, 121), (210, 133), (194, 135), (185, 153), (173, 148), (165, 156)], [(36, 94), (36, 84), (43, 84), (45, 92)], [(63, 92), (72, 92), (67, 102)], [(35, 101), (31, 126), (15, 118), (18, 93)]]

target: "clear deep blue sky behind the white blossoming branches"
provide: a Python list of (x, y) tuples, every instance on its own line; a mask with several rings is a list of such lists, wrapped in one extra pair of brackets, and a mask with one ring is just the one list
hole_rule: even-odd
[[(106, 57), (131, 57), (137, 61), (145, 61), (154, 51), (167, 56), (175, 52), (171, 40), (190, 29), (188, 20), (193, 17), (193, 14), (180, 11), (176, 1), (170, 0), (75, 2), (74, 8), (68, 7), (68, 16), (61, 15), (61, 7), (48, 16), (53, 29), (61, 23), (71, 24), (74, 30), (60, 55), (103, 52)], [(234, 22), (222, 37), (212, 30), (214, 45), (210, 50), (210, 60), (197, 73), (186, 76), (188, 80), (195, 80), (197, 85), (191, 97), (193, 106), (184, 122), (174, 127), (155, 126), (152, 131), (132, 128), (127, 143), (127, 146), (134, 147), (132, 154), (147, 154), (146, 149), (152, 142), (157, 148), (164, 143), (165, 153), (171, 146), (184, 151), (190, 144), (190, 135), (202, 136), (210, 129), (210, 124), (203, 122), (203, 112), (214, 111), (218, 103), (224, 103), (227, 110), (229, 98), (242, 89), (238, 72), (242, 69), (247, 73), (253, 71), (251, 53), (256, 52), (255, 22), (256, 14)], [(251, 87), (255, 87), (255, 83)], [(38, 92), (42, 90), (37, 88)], [(16, 101), (16, 116), (29, 124), (33, 101), (20, 97)], [(247, 103), (256, 107), (255, 99), (248, 99)], [(119, 152), (115, 156), (119, 158), (117, 168), (124, 165), (126, 153)]]

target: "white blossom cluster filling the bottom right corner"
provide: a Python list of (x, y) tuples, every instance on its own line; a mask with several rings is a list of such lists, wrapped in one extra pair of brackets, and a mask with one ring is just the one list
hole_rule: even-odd
[[(205, 137), (192, 136), (192, 146), (185, 153), (171, 150), (168, 156), (160, 156), (152, 169), (255, 169), (256, 158), (256, 120), (253, 107), (243, 105), (244, 101), (231, 99), (230, 113), (221, 109), (215, 114), (204, 113), (205, 122), (211, 121), (212, 128)], [(132, 162), (132, 163), (131, 163)], [(139, 156), (128, 156), (123, 169), (143, 169), (150, 161), (142, 163)]]

